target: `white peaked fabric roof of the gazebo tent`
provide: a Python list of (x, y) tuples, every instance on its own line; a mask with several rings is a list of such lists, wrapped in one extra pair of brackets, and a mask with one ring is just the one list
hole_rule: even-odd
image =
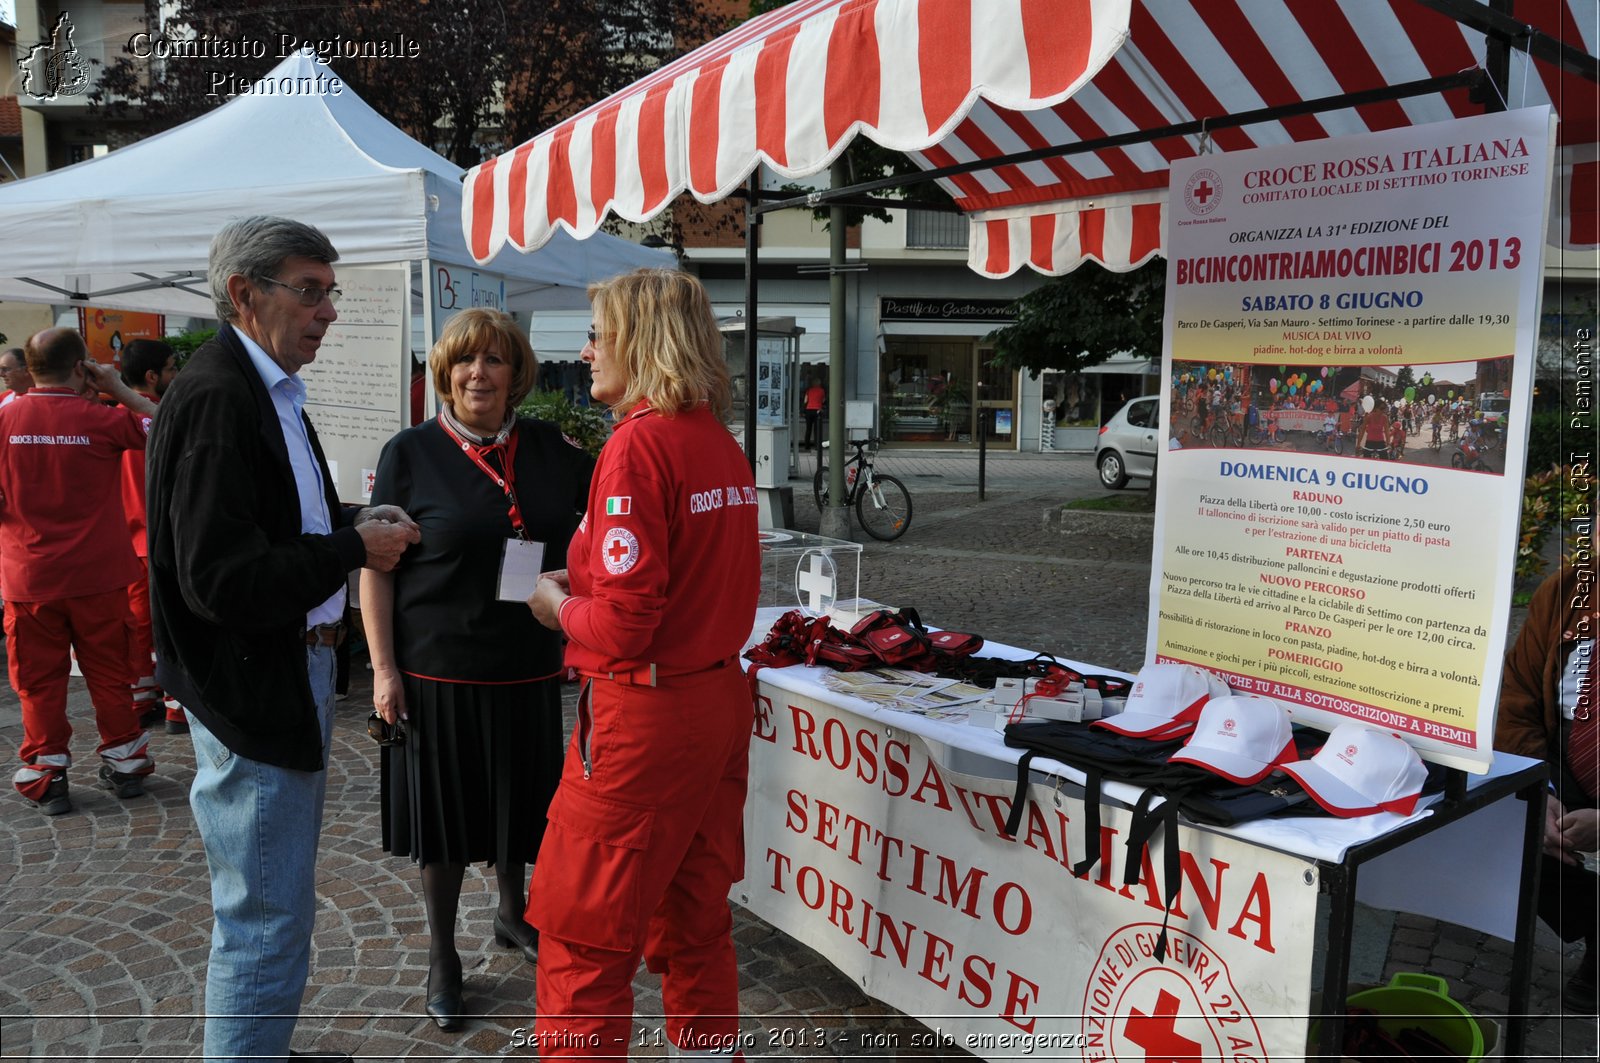
[(461, 178), (331, 67), (296, 53), (210, 114), (0, 186), (0, 299), (214, 317), (206, 248), (245, 215), (317, 226), (341, 266), (411, 263), (424, 315), (437, 304), (438, 266), (502, 277), (507, 309), (533, 311), (586, 306), (594, 279), (672, 264), (667, 251), (616, 237), (562, 235), (538, 255), (475, 266), (461, 235)]

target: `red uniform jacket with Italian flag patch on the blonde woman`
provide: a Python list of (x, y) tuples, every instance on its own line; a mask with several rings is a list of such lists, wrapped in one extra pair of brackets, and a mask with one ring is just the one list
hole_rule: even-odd
[(566, 663), (672, 674), (738, 653), (762, 581), (755, 503), (750, 463), (709, 410), (629, 413), (566, 551)]

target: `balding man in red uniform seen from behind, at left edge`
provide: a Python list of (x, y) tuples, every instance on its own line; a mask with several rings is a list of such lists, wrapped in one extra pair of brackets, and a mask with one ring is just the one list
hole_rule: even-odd
[[(0, 410), (0, 583), (11, 687), (22, 703), (13, 781), (45, 815), (72, 810), (69, 650), (94, 703), (101, 786), (138, 797), (155, 767), (128, 693), (128, 584), (138, 560), (117, 491), (122, 455), (144, 450), (155, 407), (86, 357), (75, 331), (38, 333), (27, 341), (35, 386)], [(128, 408), (85, 400), (85, 384)]]

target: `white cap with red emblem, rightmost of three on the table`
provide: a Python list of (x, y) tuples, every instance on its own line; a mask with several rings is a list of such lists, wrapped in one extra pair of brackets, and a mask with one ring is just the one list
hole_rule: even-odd
[(1339, 724), (1317, 756), (1283, 770), (1336, 816), (1411, 815), (1427, 780), (1422, 757), (1405, 738), (1362, 724)]

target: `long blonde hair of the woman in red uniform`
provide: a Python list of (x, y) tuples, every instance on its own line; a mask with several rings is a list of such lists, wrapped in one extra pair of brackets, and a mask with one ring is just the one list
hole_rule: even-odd
[(595, 331), (627, 373), (613, 410), (640, 402), (672, 416), (699, 403), (726, 423), (733, 410), (722, 333), (706, 288), (675, 269), (638, 269), (589, 285)]

